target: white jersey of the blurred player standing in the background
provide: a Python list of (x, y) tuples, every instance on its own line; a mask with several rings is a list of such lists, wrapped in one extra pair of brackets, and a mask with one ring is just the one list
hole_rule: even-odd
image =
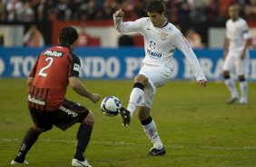
[(230, 40), (229, 52), (240, 55), (245, 41), (251, 38), (248, 25), (242, 18), (236, 21), (229, 19), (226, 22), (226, 37)]

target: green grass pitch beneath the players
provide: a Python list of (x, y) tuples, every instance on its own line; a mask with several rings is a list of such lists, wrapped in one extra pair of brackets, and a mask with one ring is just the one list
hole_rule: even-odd
[[(0, 79), (0, 167), (10, 166), (25, 132), (32, 125), (26, 107), (25, 79)], [(126, 106), (132, 81), (84, 81), (100, 93), (117, 96)], [(223, 83), (202, 88), (193, 82), (170, 82), (157, 90), (153, 119), (167, 153), (149, 157), (149, 139), (133, 115), (128, 128), (120, 116), (107, 117), (100, 103), (68, 89), (66, 98), (94, 112), (95, 124), (86, 151), (94, 167), (252, 167), (256, 166), (256, 84), (249, 84), (247, 105), (226, 104)], [(68, 167), (74, 156), (79, 124), (63, 132), (43, 133), (27, 154), (33, 167)]]

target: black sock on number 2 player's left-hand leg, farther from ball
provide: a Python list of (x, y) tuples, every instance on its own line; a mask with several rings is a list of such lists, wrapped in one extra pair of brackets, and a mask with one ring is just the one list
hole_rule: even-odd
[(21, 144), (20, 150), (15, 157), (15, 162), (24, 162), (25, 161), (25, 154), (33, 146), (34, 142), (38, 139), (39, 135), (40, 135), (40, 133), (34, 131), (33, 128), (30, 128), (27, 131), (27, 133), (25, 133), (25, 137)]

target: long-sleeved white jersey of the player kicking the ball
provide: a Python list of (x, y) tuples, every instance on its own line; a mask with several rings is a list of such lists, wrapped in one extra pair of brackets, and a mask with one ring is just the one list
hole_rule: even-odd
[(143, 64), (172, 67), (172, 57), (175, 48), (178, 48), (192, 65), (196, 80), (206, 80), (191, 46), (182, 33), (171, 23), (158, 28), (153, 26), (148, 17), (134, 22), (123, 22), (122, 17), (115, 17), (115, 15), (113, 15), (113, 21), (117, 31), (121, 34), (139, 33), (143, 35), (145, 50)]

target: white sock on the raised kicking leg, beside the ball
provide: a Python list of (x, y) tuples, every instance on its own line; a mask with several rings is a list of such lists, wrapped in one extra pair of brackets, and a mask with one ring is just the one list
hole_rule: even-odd
[(136, 111), (137, 106), (142, 102), (143, 100), (143, 93), (144, 91), (140, 88), (133, 88), (133, 91), (130, 95), (130, 100), (127, 106), (127, 110), (131, 113), (131, 117), (133, 116), (133, 113)]

